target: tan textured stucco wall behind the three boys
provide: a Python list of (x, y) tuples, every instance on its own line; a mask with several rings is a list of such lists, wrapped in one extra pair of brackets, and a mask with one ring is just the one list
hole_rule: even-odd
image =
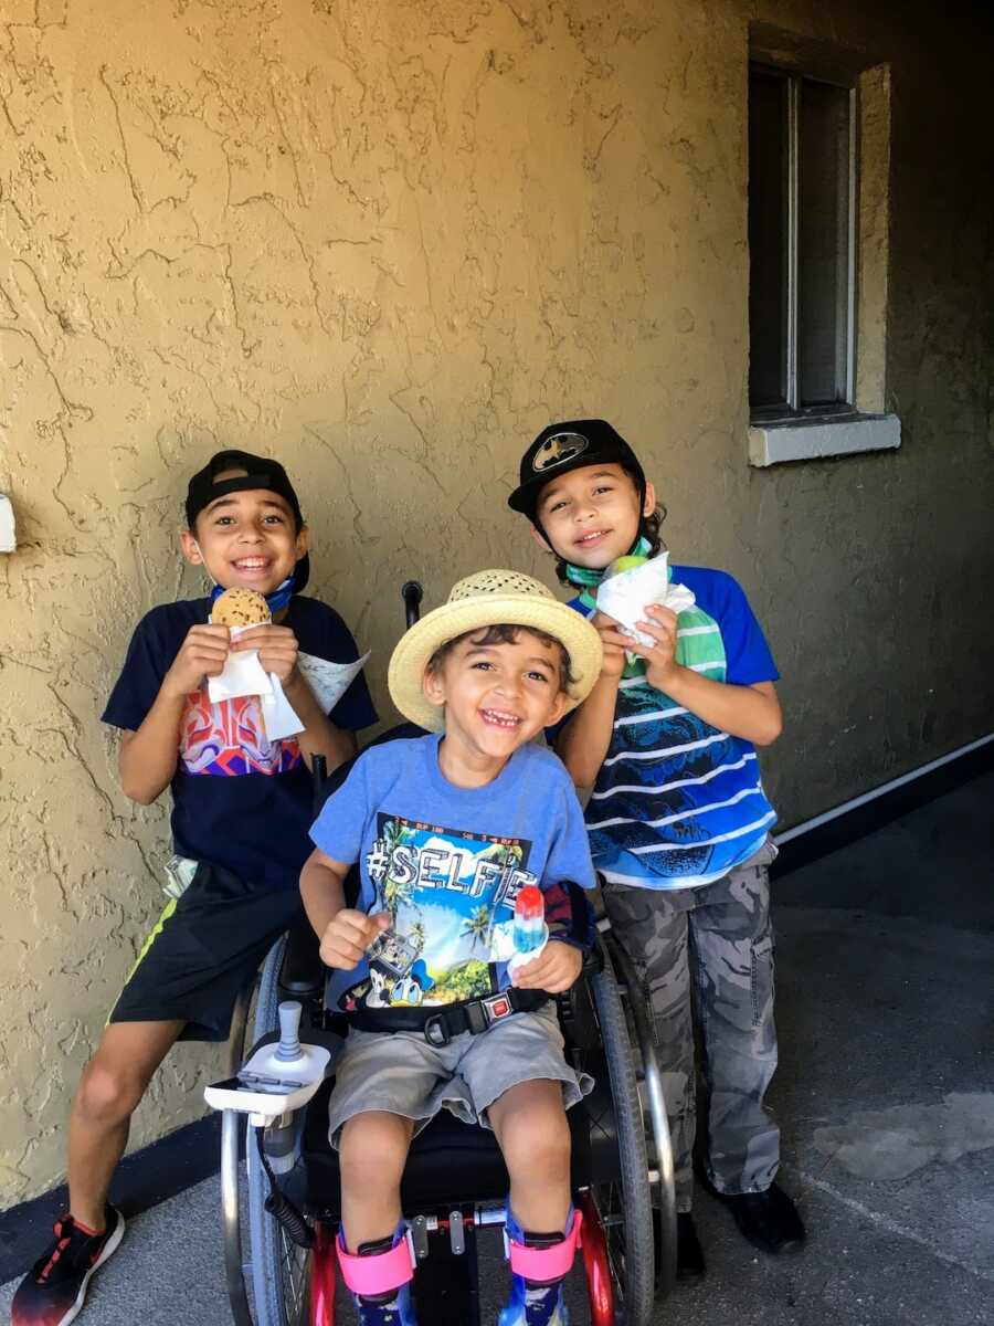
[[(176, 529), (217, 446), (298, 479), (380, 700), (400, 581), (435, 603), (542, 565), (517, 455), (596, 412), (677, 560), (740, 575), (769, 629), (785, 822), (990, 728), (989, 37), (924, 3), (0, 9), (0, 1205), (62, 1172), (160, 906), (166, 812), (122, 797), (98, 715), (137, 618), (199, 589)], [(896, 455), (746, 465), (750, 19), (891, 65)], [(200, 1113), (213, 1062), (175, 1055), (134, 1144)]]

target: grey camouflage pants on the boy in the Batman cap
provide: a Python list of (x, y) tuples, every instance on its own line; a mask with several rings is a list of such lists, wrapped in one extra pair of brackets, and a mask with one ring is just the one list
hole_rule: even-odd
[(689, 1211), (696, 1134), (693, 1010), (706, 1090), (705, 1163), (718, 1192), (763, 1192), (779, 1164), (779, 1128), (763, 1109), (777, 1069), (766, 842), (701, 888), (607, 884), (611, 928), (648, 992), (673, 1138), (677, 1211)]

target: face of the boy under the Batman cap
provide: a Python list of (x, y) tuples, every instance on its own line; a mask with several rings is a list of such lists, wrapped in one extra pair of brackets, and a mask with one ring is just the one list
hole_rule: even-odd
[(635, 481), (619, 464), (583, 465), (542, 489), (535, 509), (541, 529), (533, 534), (563, 561), (603, 570), (632, 548), (641, 517), (655, 507), (652, 484), (640, 505)]

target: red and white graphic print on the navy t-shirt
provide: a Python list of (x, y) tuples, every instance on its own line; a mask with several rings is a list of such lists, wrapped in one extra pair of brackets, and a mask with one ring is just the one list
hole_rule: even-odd
[(269, 740), (257, 695), (212, 704), (207, 686), (187, 696), (179, 757), (187, 773), (227, 778), (243, 773), (286, 773), (304, 758), (296, 737)]

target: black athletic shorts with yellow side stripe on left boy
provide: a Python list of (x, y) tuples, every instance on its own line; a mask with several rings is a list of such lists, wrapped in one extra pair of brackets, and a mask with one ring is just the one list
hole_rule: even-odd
[(262, 890), (201, 861), (144, 941), (107, 1021), (182, 1018), (182, 1041), (227, 1041), (239, 993), (302, 915), (296, 888)]

